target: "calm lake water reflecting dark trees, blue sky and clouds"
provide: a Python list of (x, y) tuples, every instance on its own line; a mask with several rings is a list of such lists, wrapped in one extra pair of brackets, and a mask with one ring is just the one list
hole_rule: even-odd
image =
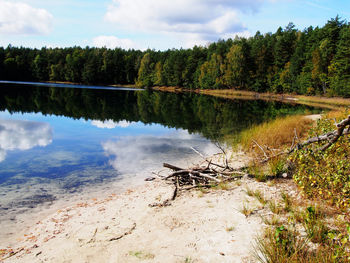
[[(214, 140), (314, 111), (191, 93), (0, 82), (1, 224), (18, 226), (60, 201), (118, 193), (163, 162), (190, 162), (190, 147), (213, 154)], [(2, 236), (13, 232), (2, 229)]]

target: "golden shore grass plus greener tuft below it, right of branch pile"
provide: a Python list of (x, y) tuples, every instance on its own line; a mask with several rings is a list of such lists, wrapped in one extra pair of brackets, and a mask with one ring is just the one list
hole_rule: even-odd
[[(266, 182), (290, 173), (286, 155), (278, 154), (286, 148), (289, 149), (297, 139), (305, 137), (312, 123), (305, 116), (295, 115), (280, 117), (242, 131), (237, 142), (254, 160), (248, 169), (249, 173), (258, 182)], [(266, 163), (257, 161), (267, 157), (270, 159)]]

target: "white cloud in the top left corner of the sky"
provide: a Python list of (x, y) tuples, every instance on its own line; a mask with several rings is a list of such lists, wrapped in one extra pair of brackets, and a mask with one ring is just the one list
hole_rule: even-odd
[(26, 3), (0, 0), (0, 34), (41, 35), (51, 32), (53, 16)]

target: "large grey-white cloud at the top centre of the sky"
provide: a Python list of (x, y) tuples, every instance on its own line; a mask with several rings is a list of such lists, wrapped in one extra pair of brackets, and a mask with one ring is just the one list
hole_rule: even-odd
[(239, 14), (267, 0), (113, 0), (105, 19), (122, 28), (175, 34), (187, 43), (244, 32)]

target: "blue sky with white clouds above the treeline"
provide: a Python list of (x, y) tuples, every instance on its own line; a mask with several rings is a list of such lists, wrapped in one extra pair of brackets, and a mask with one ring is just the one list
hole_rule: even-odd
[(191, 48), (337, 15), (350, 0), (0, 0), (0, 46)]

